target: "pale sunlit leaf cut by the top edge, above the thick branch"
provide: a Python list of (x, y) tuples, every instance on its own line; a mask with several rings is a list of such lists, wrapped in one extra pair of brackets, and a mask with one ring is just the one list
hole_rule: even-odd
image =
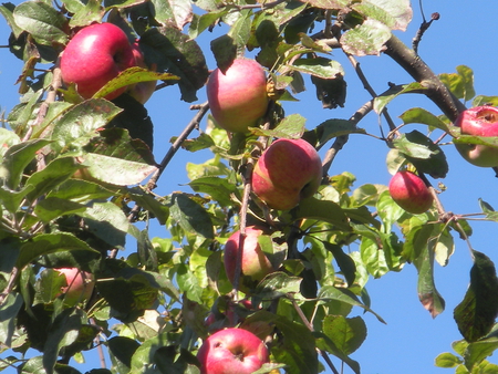
[(391, 30), (406, 31), (413, 17), (409, 0), (363, 0), (352, 8), (369, 19), (381, 21)]

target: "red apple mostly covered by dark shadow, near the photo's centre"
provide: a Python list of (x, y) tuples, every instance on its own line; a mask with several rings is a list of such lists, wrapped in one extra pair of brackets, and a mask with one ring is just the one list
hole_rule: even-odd
[(322, 162), (310, 143), (278, 139), (255, 166), (252, 191), (270, 208), (291, 209), (317, 193), (322, 174)]

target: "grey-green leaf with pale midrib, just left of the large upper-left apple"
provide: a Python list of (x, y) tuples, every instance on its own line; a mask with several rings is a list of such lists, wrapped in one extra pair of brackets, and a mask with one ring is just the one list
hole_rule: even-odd
[(40, 44), (65, 44), (68, 41), (68, 34), (62, 31), (65, 17), (45, 2), (25, 1), (15, 7), (13, 18)]

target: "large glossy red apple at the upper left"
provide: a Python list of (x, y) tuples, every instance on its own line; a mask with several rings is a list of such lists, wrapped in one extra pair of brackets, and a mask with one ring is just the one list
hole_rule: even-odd
[[(75, 83), (84, 98), (92, 97), (122, 71), (135, 66), (135, 55), (125, 32), (112, 23), (94, 23), (81, 29), (68, 43), (61, 56), (65, 83)], [(105, 98), (120, 96), (118, 89)]]

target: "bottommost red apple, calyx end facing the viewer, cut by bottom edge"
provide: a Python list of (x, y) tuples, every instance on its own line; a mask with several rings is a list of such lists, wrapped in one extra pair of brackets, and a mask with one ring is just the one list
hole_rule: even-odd
[(197, 359), (201, 374), (251, 374), (268, 362), (268, 349), (247, 330), (226, 329), (206, 339)]

